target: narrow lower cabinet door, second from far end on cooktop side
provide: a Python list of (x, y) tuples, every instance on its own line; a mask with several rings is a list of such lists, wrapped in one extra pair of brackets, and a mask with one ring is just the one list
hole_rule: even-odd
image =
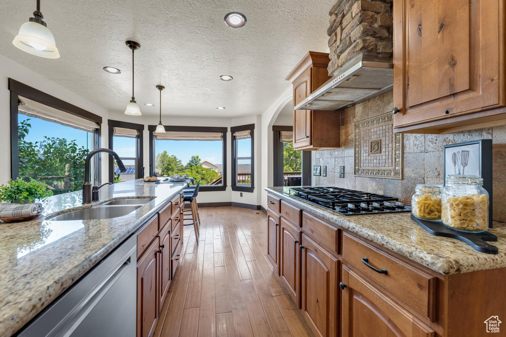
[(286, 293), (297, 306), (301, 307), (300, 284), (300, 236), (301, 232), (289, 224), (285, 219), (279, 219), (280, 228), (280, 252), (279, 252), (279, 276), (283, 282)]

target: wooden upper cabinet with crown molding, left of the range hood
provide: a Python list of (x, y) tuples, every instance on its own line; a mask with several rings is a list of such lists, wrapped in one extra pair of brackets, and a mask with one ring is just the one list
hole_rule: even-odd
[[(293, 84), (293, 106), (298, 105), (325, 83), (330, 62), (327, 53), (309, 52), (288, 74)], [(295, 110), (293, 112), (293, 148), (320, 150), (340, 147), (339, 112)]]

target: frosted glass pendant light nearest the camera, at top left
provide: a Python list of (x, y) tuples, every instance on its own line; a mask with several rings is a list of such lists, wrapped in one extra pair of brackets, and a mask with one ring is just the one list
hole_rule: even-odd
[(60, 53), (58, 53), (55, 38), (42, 19), (44, 16), (40, 13), (40, 0), (37, 0), (37, 9), (33, 12), (33, 18), (29, 18), (28, 22), (21, 25), (12, 43), (23, 52), (46, 59), (58, 59)]

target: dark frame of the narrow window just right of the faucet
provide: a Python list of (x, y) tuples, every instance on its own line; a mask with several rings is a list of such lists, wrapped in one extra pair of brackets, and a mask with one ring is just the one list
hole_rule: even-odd
[[(139, 134), (136, 137), (135, 144), (135, 154), (136, 158), (123, 158), (129, 160), (135, 160), (135, 178), (140, 179), (144, 178), (144, 145), (143, 145), (143, 132), (144, 125), (137, 123), (129, 123), (123, 121), (116, 121), (112, 119), (107, 120), (107, 125), (109, 126), (109, 150), (114, 151), (114, 127), (121, 127), (124, 129), (132, 129), (139, 131)], [(114, 183), (114, 162), (112, 156), (109, 156), (109, 181)]]

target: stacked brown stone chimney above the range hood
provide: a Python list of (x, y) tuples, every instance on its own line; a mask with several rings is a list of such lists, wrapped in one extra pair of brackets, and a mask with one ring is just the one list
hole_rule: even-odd
[(392, 56), (392, 0), (338, 0), (329, 15), (329, 76), (359, 54)]

